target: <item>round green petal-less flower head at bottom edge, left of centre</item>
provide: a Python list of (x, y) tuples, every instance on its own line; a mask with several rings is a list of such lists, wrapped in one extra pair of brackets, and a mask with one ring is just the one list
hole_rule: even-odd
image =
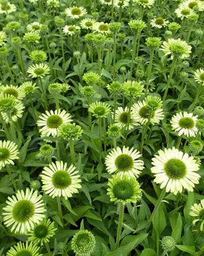
[(94, 252), (96, 240), (88, 230), (79, 230), (72, 238), (72, 250), (77, 256), (90, 256)]

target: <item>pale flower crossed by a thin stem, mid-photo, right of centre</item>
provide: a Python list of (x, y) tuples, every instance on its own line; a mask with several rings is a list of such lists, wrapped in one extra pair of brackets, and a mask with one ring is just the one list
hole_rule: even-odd
[(115, 124), (117, 124), (120, 128), (126, 127), (128, 125), (128, 119), (129, 129), (132, 129), (138, 125), (132, 111), (130, 111), (129, 117), (128, 107), (125, 107), (125, 110), (123, 110), (123, 107), (118, 107), (118, 109), (115, 111)]

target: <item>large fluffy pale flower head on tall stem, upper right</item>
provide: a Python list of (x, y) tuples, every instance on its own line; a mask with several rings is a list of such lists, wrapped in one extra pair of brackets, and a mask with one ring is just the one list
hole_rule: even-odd
[(191, 46), (181, 39), (170, 38), (167, 42), (163, 42), (162, 51), (165, 55), (175, 56), (176, 58), (188, 58), (191, 53)]

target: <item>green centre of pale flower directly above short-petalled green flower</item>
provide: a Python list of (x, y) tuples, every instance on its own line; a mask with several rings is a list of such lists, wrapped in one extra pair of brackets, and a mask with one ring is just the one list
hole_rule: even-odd
[(130, 171), (134, 166), (134, 160), (128, 154), (120, 154), (115, 159), (115, 166), (118, 171)]

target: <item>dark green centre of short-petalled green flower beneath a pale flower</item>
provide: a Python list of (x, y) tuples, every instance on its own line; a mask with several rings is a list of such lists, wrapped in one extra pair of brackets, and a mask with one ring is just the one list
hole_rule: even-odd
[(127, 200), (132, 198), (134, 195), (134, 189), (132, 188), (130, 182), (119, 181), (113, 186), (113, 194), (117, 199)]

